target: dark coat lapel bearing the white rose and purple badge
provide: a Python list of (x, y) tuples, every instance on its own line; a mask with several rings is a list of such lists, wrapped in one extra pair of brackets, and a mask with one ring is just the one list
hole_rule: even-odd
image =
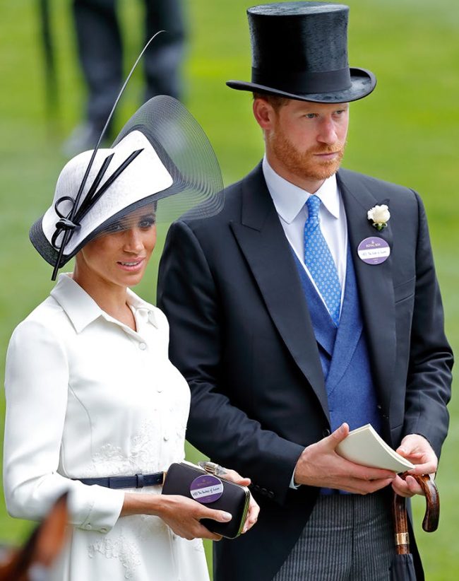
[(340, 170), (337, 177), (345, 205), (348, 244), (357, 278), (374, 380), (383, 413), (388, 416), (396, 353), (392, 257), (389, 256), (382, 264), (373, 265), (364, 263), (357, 255), (360, 242), (371, 236), (383, 238), (392, 249), (391, 223), (378, 232), (366, 217), (371, 207), (388, 203), (388, 200), (379, 198), (377, 190), (370, 191), (358, 175)]

